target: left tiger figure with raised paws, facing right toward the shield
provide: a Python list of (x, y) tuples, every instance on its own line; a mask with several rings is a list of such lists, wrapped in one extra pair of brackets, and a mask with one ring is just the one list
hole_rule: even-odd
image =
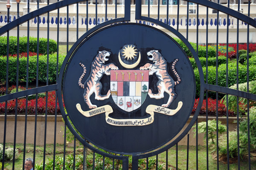
[(108, 61), (111, 52), (109, 51), (99, 51), (99, 54), (95, 57), (91, 65), (90, 76), (86, 79), (84, 84), (82, 84), (82, 79), (86, 74), (86, 67), (81, 62), (79, 63), (84, 69), (83, 74), (79, 78), (78, 85), (81, 88), (84, 88), (84, 102), (89, 106), (90, 109), (97, 108), (97, 105), (93, 105), (90, 101), (90, 96), (94, 93), (96, 100), (105, 100), (108, 99), (111, 95), (109, 90), (106, 95), (102, 95), (102, 83), (100, 79), (104, 74), (110, 75), (110, 70), (118, 70), (118, 67), (113, 63), (105, 65), (105, 62)]

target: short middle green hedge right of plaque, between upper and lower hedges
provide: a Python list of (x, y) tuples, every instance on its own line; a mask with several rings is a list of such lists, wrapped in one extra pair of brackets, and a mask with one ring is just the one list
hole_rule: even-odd
[[(226, 57), (225, 56), (220, 56), (218, 57), (218, 65), (226, 63)], [(192, 67), (195, 69), (197, 68), (197, 65), (195, 63), (194, 58), (189, 58)], [(201, 62), (202, 67), (206, 67), (206, 58), (205, 57), (199, 57), (199, 60)], [(208, 58), (208, 66), (216, 66), (216, 58)]]

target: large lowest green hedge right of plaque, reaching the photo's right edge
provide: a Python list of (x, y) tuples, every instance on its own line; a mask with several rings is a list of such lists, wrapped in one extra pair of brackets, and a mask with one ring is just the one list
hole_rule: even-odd
[[(206, 82), (206, 67), (203, 67), (204, 72), (204, 82)], [(195, 81), (196, 81), (196, 98), (200, 94), (200, 78), (198, 69), (194, 70)], [(249, 81), (256, 80), (256, 67), (255, 65), (249, 66)], [(244, 83), (247, 81), (247, 66), (239, 64), (239, 83)], [(216, 85), (216, 67), (208, 67), (208, 84)], [(228, 64), (228, 87), (236, 84), (236, 63)], [(226, 64), (221, 64), (218, 67), (218, 85), (226, 87)], [(216, 98), (215, 92), (209, 92), (209, 97), (212, 99)], [(223, 96), (221, 96), (222, 98)]]

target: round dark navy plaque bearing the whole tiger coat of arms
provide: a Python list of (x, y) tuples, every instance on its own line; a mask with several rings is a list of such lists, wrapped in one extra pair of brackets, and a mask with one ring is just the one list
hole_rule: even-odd
[(122, 23), (102, 28), (69, 53), (64, 104), (92, 144), (114, 153), (144, 153), (173, 139), (189, 119), (195, 76), (183, 49), (156, 28)]

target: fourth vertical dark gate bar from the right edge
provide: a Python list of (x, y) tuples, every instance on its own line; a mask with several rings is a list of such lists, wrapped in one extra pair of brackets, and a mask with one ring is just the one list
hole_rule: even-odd
[[(220, 0), (218, 0), (218, 4)], [(216, 85), (218, 85), (218, 31), (219, 31), (219, 11), (217, 10), (217, 32), (216, 32)], [(218, 91), (216, 92), (216, 145), (217, 145), (217, 170), (219, 169), (218, 152)]]

